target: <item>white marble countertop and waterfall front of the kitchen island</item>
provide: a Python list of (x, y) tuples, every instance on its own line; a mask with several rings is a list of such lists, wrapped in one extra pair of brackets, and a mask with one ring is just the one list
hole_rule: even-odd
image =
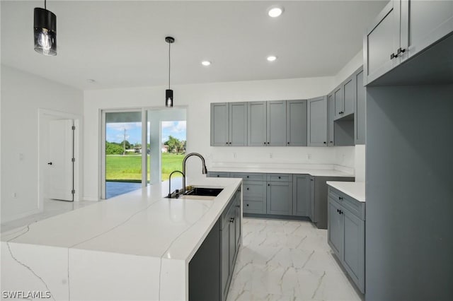
[(50, 300), (188, 300), (190, 261), (241, 179), (188, 182), (223, 190), (212, 199), (166, 199), (164, 182), (3, 233), (2, 292), (38, 292)]

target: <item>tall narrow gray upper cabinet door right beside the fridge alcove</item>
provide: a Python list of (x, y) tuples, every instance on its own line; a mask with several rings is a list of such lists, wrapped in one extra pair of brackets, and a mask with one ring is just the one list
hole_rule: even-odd
[(365, 87), (363, 86), (363, 69), (354, 73), (355, 85), (355, 114), (354, 140), (355, 144), (365, 144)]

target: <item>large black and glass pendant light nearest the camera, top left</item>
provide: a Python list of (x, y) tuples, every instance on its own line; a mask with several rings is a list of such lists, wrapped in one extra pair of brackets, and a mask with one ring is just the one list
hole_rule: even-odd
[(57, 55), (57, 16), (44, 8), (35, 7), (35, 52), (44, 55)]

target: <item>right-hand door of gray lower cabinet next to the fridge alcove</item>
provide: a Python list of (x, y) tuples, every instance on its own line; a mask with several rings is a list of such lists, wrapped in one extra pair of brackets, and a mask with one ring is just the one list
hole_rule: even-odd
[(343, 265), (362, 293), (365, 291), (365, 222), (348, 210), (343, 216)]

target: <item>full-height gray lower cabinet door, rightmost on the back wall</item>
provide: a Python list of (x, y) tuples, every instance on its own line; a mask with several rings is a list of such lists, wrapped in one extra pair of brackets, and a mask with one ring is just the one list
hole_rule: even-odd
[(292, 183), (292, 215), (310, 215), (310, 176), (294, 175)]

